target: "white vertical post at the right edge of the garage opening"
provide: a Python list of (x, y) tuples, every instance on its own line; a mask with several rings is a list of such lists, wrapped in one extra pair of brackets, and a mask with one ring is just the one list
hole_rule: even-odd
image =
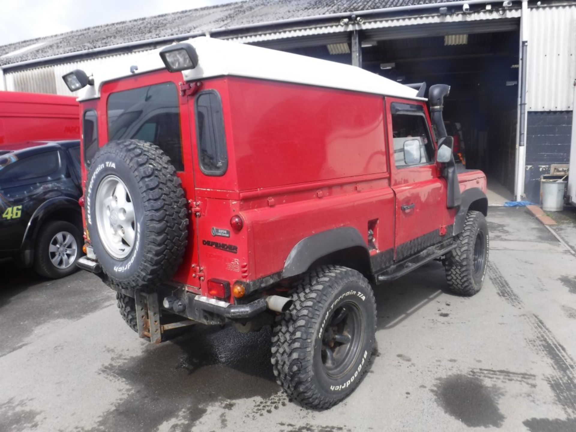
[(518, 126), (516, 146), (516, 181), (514, 195), (517, 201), (524, 196), (524, 180), (526, 174), (526, 70), (528, 69), (528, 0), (522, 0), (520, 17), (520, 77), (518, 81)]

